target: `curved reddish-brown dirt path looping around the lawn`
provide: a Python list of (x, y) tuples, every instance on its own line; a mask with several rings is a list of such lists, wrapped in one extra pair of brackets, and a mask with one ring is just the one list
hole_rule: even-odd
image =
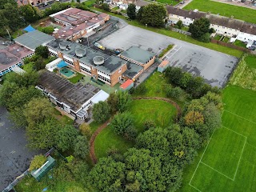
[[(177, 109), (177, 119), (180, 118), (181, 114), (182, 114), (182, 110), (181, 108), (178, 106), (178, 104), (172, 100), (170, 100), (169, 98), (158, 98), (158, 97), (137, 97), (137, 98), (133, 98), (134, 100), (140, 100), (140, 99), (148, 99), (148, 100), (161, 100), (164, 102), (169, 102), (171, 105), (173, 105), (176, 109)], [(94, 132), (94, 134), (90, 137), (90, 159), (91, 161), (96, 164), (97, 163), (97, 158), (95, 155), (95, 151), (94, 151), (94, 141), (95, 138), (97, 137), (97, 135), (106, 128), (106, 126), (108, 126), (108, 124), (110, 123), (110, 120), (108, 120), (107, 122), (105, 122), (104, 124), (102, 124), (102, 126), (99, 126), (98, 129)]]

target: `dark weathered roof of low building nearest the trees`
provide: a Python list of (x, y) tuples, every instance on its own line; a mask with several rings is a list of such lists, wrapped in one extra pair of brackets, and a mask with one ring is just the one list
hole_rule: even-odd
[(39, 85), (50, 92), (59, 102), (64, 102), (74, 112), (78, 111), (84, 103), (97, 94), (100, 89), (89, 83), (73, 84), (66, 78), (45, 70), (40, 74)]

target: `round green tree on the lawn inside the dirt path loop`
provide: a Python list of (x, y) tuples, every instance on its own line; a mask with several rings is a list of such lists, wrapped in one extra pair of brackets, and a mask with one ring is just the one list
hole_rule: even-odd
[(134, 129), (134, 118), (130, 112), (114, 115), (110, 125), (117, 134), (122, 134), (128, 139), (134, 139), (137, 135), (137, 130)]

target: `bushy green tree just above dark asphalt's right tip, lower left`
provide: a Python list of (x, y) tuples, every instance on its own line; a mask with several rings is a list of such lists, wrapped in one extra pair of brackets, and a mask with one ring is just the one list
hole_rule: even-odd
[(55, 118), (46, 118), (45, 121), (26, 127), (26, 136), (32, 149), (48, 149), (56, 145), (58, 131), (62, 127)]

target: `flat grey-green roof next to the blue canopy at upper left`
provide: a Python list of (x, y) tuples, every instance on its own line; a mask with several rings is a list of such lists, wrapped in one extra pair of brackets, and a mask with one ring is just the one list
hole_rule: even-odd
[(14, 39), (15, 42), (25, 46), (26, 48), (29, 48), (30, 50), (35, 50), (35, 48), (38, 46), (41, 46), (46, 42), (50, 42), (51, 40), (54, 40), (53, 36), (42, 33), (39, 30), (34, 30), (26, 34), (22, 34), (18, 38)]

